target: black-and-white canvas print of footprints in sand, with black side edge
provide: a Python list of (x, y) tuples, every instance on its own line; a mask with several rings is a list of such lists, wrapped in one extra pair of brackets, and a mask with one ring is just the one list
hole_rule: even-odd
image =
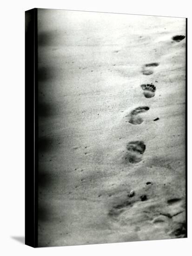
[(176, 17), (26, 12), (32, 246), (187, 236), (186, 27)]

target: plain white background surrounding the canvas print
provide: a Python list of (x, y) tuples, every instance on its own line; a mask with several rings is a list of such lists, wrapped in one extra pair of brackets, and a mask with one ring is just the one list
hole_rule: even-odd
[[(24, 245), (24, 21), (25, 10), (58, 8), (113, 13), (187, 17), (188, 19), (188, 238), (150, 242), (38, 248)], [(191, 32), (189, 0), (18, 0), (0, 8), (0, 255), (191, 255), (192, 142)], [(177, 125), (177, 124), (176, 124)], [(191, 248), (190, 248), (191, 247)]]

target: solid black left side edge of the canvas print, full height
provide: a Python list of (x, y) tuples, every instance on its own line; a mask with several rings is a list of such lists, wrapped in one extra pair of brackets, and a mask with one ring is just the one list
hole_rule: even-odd
[(25, 244), (38, 246), (37, 9), (25, 12)]

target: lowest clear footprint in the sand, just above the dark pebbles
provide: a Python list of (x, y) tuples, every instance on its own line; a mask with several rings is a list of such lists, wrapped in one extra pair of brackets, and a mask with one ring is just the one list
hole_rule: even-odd
[(142, 155), (146, 150), (143, 141), (131, 141), (126, 145), (127, 153), (125, 160), (130, 163), (138, 163), (142, 160)]

